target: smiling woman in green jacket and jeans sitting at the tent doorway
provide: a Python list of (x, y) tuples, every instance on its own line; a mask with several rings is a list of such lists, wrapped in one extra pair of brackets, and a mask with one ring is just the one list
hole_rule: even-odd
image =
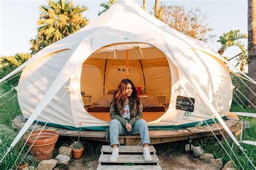
[(110, 107), (110, 143), (112, 155), (109, 161), (116, 162), (119, 156), (119, 134), (140, 134), (145, 161), (151, 161), (150, 138), (147, 123), (142, 119), (143, 105), (137, 90), (129, 79), (123, 79), (117, 88)]

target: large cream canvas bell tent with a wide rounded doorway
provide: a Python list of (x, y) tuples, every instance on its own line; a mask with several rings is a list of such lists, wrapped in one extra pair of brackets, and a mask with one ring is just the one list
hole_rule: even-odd
[[(134, 44), (145, 47), (138, 49)], [(106, 52), (107, 47), (110, 47), (109, 52)], [(109, 60), (113, 67), (117, 62), (122, 66), (126, 50), (129, 50), (134, 70), (139, 68), (139, 61), (144, 65), (147, 93), (163, 93), (169, 97), (169, 109), (160, 118), (148, 122), (150, 128), (193, 126), (211, 120), (214, 115), (213, 118), (217, 118), (233, 137), (221, 117), (225, 117), (231, 107), (233, 87), (229, 71), (235, 68), (203, 42), (171, 29), (136, 2), (117, 0), (94, 22), (45, 47), (1, 80), (25, 67), (17, 91), (19, 105), (28, 121), (11, 147), (33, 121), (48, 122), (50, 115), (49, 124), (53, 126), (76, 129), (82, 124), (84, 130), (106, 129), (109, 122), (93, 117), (84, 109), (80, 91), (89, 90), (87, 92), (95, 94), (96, 100), (103, 95), (105, 62), (102, 61)], [(84, 74), (86, 66), (91, 66), (87, 67), (90, 74)], [(140, 78), (132, 79), (144, 88), (142, 70), (134, 70), (131, 76)], [(119, 80), (113, 80), (114, 77), (117, 77), (114, 72), (109, 72), (105, 90), (117, 86)], [(68, 93), (60, 102), (67, 89)], [(189, 118), (184, 118), (185, 111), (175, 107), (177, 96), (186, 94), (196, 100), (195, 110)], [(235, 143), (239, 145), (236, 140)]]

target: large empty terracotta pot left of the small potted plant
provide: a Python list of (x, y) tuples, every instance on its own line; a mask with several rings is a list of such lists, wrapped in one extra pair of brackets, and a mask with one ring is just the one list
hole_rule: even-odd
[[(31, 146), (37, 138), (40, 131), (32, 132), (28, 143), (26, 145)], [(30, 133), (25, 134), (25, 140), (28, 139)], [(52, 158), (52, 152), (59, 134), (52, 130), (43, 130), (33, 146), (30, 153), (38, 160), (48, 160)]]

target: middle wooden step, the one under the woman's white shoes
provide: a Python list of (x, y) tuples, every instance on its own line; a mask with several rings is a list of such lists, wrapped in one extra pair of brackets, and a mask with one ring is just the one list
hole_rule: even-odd
[[(113, 162), (109, 161), (110, 154), (101, 154), (99, 157), (99, 165), (102, 163), (110, 163), (113, 164)], [(144, 157), (142, 154), (123, 154), (120, 155), (114, 164), (119, 164), (119, 163), (134, 163), (134, 164), (152, 164), (155, 163), (159, 165), (159, 159), (156, 154), (152, 154), (152, 161), (145, 161)]]

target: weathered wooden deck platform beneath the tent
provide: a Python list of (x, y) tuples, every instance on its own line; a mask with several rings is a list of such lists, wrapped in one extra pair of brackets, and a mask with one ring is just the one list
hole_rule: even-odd
[[(25, 124), (26, 120), (22, 115), (17, 116), (12, 121), (12, 126), (16, 129), (21, 129), (23, 125)], [(237, 118), (231, 118), (228, 117), (227, 120), (225, 120), (225, 123), (228, 127), (232, 127), (234, 125), (237, 126), (239, 120)], [(218, 123), (220, 129), (223, 129), (223, 127)], [(30, 126), (30, 130), (33, 129), (35, 126), (35, 123), (33, 123)], [(211, 130), (214, 132), (214, 134), (218, 135), (221, 134), (217, 125), (211, 124)], [(43, 128), (43, 125), (37, 124), (36, 130), (41, 130)], [(45, 126), (45, 130), (54, 130), (59, 133), (60, 136), (71, 136), (71, 137), (83, 137), (85, 139), (90, 140), (98, 140), (98, 141), (106, 141), (104, 135), (105, 131), (71, 131), (61, 128), (54, 128), (51, 126)], [(166, 143), (170, 141), (179, 141), (179, 140), (186, 140), (188, 137), (193, 138), (201, 138), (201, 137), (207, 137), (207, 136), (213, 136), (211, 130), (207, 126), (194, 126), (191, 128), (185, 128), (180, 130), (150, 130), (150, 140), (151, 144), (159, 144), (159, 143)], [(141, 139), (139, 135), (133, 135), (133, 136), (119, 136), (119, 142), (120, 144), (124, 145), (141, 145)]]

